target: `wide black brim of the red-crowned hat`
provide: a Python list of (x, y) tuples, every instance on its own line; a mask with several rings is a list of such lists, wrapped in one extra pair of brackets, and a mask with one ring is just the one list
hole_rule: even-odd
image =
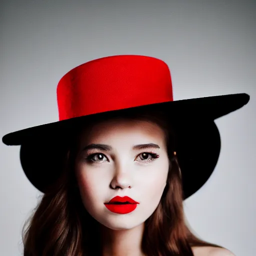
[(242, 107), (248, 101), (249, 95), (240, 93), (137, 106), (30, 127), (8, 133), (2, 141), (6, 145), (21, 145), (20, 161), (25, 175), (37, 189), (45, 192), (45, 188), (59, 176), (65, 138), (76, 124), (132, 110), (164, 110), (175, 126), (185, 199), (207, 181), (217, 163), (220, 135), (214, 119)]

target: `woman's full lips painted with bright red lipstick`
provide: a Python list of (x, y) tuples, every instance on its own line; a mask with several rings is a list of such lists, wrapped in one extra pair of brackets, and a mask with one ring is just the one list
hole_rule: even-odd
[(134, 201), (128, 196), (115, 196), (109, 202), (104, 203), (107, 209), (112, 212), (125, 214), (133, 211), (139, 202)]

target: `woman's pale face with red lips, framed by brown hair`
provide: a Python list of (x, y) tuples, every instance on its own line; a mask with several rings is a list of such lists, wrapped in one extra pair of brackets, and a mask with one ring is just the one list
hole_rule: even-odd
[[(75, 174), (82, 202), (108, 228), (129, 229), (143, 223), (160, 201), (167, 173), (164, 132), (152, 122), (103, 121), (79, 137)], [(124, 213), (134, 204), (105, 204), (115, 196), (128, 196), (138, 204)]]

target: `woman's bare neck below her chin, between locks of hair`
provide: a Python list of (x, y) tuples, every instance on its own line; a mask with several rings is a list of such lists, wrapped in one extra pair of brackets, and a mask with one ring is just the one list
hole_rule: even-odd
[(144, 224), (126, 230), (101, 226), (102, 256), (143, 256), (141, 241)]

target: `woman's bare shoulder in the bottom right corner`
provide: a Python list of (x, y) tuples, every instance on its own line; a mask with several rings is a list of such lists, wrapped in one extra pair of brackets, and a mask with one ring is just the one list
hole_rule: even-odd
[(192, 247), (194, 256), (235, 256), (230, 250), (212, 246)]

